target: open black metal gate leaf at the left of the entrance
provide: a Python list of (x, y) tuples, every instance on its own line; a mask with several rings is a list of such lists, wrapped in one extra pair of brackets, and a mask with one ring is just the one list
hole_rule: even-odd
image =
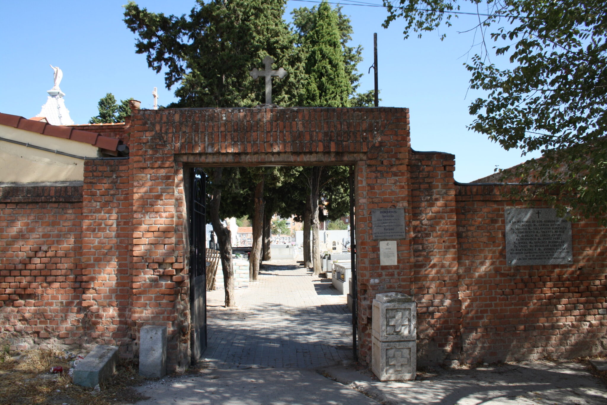
[(206, 349), (206, 175), (192, 169), (192, 210), (189, 220), (190, 242), (190, 340), (192, 364)]

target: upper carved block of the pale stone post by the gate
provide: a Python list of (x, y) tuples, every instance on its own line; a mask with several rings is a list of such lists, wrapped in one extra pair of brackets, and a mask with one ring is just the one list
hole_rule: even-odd
[(413, 299), (401, 293), (377, 294), (373, 300), (372, 335), (382, 342), (415, 341), (417, 309)]

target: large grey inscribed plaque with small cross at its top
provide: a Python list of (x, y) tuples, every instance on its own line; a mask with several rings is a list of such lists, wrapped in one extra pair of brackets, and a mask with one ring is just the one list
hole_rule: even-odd
[(570, 264), (571, 222), (552, 208), (506, 209), (506, 262), (510, 266)]

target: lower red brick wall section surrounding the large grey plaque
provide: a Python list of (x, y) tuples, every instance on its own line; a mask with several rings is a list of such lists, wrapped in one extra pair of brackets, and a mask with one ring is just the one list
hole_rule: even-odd
[(523, 205), (503, 192), (457, 186), (461, 361), (604, 355), (605, 228), (572, 223), (571, 265), (507, 266), (505, 209)]

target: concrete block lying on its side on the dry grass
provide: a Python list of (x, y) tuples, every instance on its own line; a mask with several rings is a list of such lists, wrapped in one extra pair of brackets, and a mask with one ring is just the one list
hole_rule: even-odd
[(101, 384), (116, 372), (117, 363), (118, 347), (98, 345), (74, 367), (73, 383), (83, 387)]

